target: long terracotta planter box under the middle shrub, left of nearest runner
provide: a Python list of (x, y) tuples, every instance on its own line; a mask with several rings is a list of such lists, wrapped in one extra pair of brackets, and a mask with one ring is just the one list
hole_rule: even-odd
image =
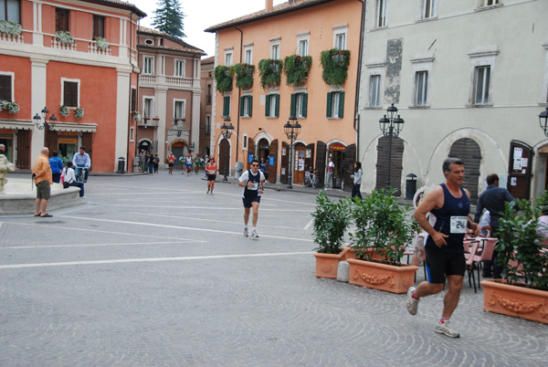
[(407, 288), (415, 284), (418, 267), (414, 265), (396, 267), (353, 258), (347, 261), (350, 264), (350, 284), (392, 293), (406, 293)]

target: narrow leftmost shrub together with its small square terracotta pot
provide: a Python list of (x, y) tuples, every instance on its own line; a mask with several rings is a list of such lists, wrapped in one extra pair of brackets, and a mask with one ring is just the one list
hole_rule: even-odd
[(350, 205), (347, 200), (332, 202), (321, 190), (316, 196), (314, 217), (314, 242), (318, 245), (316, 257), (316, 277), (337, 278), (339, 261), (344, 259), (343, 236), (350, 225)]

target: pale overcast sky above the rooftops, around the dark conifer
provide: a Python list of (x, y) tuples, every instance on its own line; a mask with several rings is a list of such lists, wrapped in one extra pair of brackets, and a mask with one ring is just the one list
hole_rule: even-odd
[[(274, 0), (274, 5), (287, 0)], [(151, 26), (157, 0), (129, 0), (148, 16), (141, 19), (141, 26)], [(180, 0), (184, 13), (184, 42), (201, 48), (207, 57), (215, 56), (215, 33), (205, 33), (204, 29), (227, 20), (246, 16), (265, 8), (265, 0)]]

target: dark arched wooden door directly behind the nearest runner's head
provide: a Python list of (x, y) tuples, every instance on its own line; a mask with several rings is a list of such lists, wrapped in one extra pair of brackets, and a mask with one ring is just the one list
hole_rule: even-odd
[(451, 145), (449, 158), (459, 158), (464, 162), (463, 188), (470, 193), (470, 204), (478, 203), (479, 164), (481, 150), (477, 142), (469, 138), (458, 139)]

